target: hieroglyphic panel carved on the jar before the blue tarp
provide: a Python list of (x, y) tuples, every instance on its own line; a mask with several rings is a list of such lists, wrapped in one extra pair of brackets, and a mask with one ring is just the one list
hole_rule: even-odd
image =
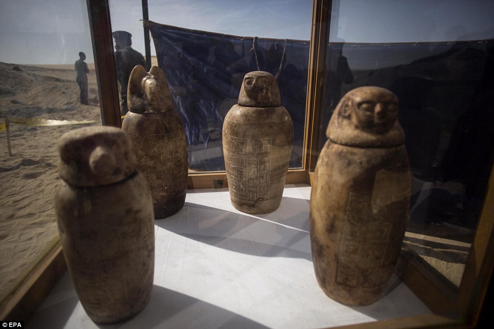
[(232, 197), (264, 202), (269, 198), (271, 139), (228, 137), (228, 168)]

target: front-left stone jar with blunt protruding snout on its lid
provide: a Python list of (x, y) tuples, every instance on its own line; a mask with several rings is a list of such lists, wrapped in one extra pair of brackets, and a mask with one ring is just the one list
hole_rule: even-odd
[(127, 134), (113, 127), (72, 130), (59, 140), (55, 214), (69, 274), (89, 317), (115, 323), (149, 301), (154, 217), (149, 186)]

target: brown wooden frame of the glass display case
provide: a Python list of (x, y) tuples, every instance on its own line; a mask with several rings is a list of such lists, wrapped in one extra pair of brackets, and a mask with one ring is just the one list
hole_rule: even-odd
[[(118, 106), (118, 89), (113, 64), (113, 45), (108, 0), (87, 0), (94, 60), (97, 71), (100, 106), (103, 124), (121, 125)], [(301, 169), (291, 169), (287, 183), (310, 183), (311, 172), (317, 159), (317, 124), (321, 107), (326, 40), (330, 23), (331, 0), (314, 0), (313, 24), (310, 45), (310, 69), (304, 141), (305, 161)], [(227, 187), (224, 172), (190, 173), (188, 188)], [(392, 319), (345, 328), (466, 328), (477, 324), (483, 301), (494, 268), (494, 168), (485, 195), (477, 234), (465, 267), (458, 292), (452, 292), (437, 277), (425, 269), (413, 256), (402, 253), (397, 275), (432, 309), (436, 315)], [(0, 307), (0, 318), (27, 320), (64, 273), (65, 261), (60, 241), (54, 240), (42, 260), (10, 298)]]

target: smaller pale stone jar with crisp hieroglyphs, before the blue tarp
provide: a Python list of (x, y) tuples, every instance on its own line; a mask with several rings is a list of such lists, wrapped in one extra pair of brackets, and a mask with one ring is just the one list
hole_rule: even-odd
[(223, 156), (230, 199), (249, 214), (276, 210), (283, 195), (293, 144), (293, 123), (280, 105), (271, 73), (245, 74), (223, 123)]

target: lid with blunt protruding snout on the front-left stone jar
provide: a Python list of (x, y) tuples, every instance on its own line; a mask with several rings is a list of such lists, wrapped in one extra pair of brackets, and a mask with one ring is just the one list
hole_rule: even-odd
[(122, 129), (108, 126), (71, 130), (59, 139), (60, 177), (74, 187), (120, 182), (136, 170), (130, 138)]

